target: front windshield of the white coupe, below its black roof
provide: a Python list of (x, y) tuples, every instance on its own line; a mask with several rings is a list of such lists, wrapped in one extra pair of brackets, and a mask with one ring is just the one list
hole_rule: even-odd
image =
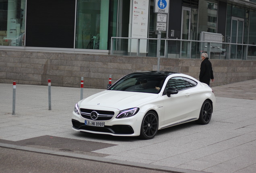
[(166, 77), (161, 73), (132, 73), (121, 78), (109, 90), (157, 94)]

